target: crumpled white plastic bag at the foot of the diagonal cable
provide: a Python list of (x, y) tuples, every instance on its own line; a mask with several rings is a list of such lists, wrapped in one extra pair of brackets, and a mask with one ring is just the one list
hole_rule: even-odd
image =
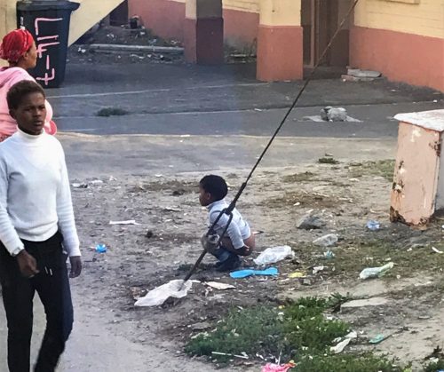
[(145, 297), (140, 297), (135, 306), (158, 306), (169, 298), (183, 298), (188, 294), (188, 290), (193, 286), (192, 281), (184, 282), (182, 279), (176, 279), (163, 284), (153, 290), (150, 290)]

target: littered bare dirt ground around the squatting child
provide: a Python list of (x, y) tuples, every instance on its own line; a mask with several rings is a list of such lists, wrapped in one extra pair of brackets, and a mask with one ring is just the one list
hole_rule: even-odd
[[(231, 306), (283, 304), (291, 298), (340, 293), (353, 298), (384, 297), (385, 305), (341, 310), (331, 316), (349, 321), (359, 338), (349, 350), (376, 350), (402, 361), (416, 360), (416, 368), (435, 346), (442, 346), (442, 263), (432, 247), (444, 248), (440, 221), (427, 229), (411, 229), (389, 221), (392, 161), (305, 163), (297, 167), (258, 170), (238, 202), (238, 209), (258, 235), (257, 251), (288, 244), (296, 256), (275, 264), (279, 276), (233, 280), (210, 268), (206, 257), (194, 274), (197, 281), (230, 283), (221, 291), (194, 283), (186, 298), (154, 308), (136, 308), (135, 298), (172, 279), (183, 278), (201, 253), (199, 236), (205, 232), (206, 210), (198, 204), (197, 182), (202, 173), (175, 177), (81, 179), (87, 188), (73, 188), (75, 214), (84, 253), (88, 285), (78, 285), (82, 301), (111, 310), (110, 321), (123, 323), (121, 336), (141, 344), (156, 343), (178, 354), (190, 336), (210, 328), (209, 322)], [(233, 197), (247, 170), (219, 173), (226, 177)], [(311, 213), (325, 224), (321, 229), (297, 228)], [(112, 220), (132, 220), (138, 225), (110, 225)], [(369, 231), (366, 223), (381, 223)], [(339, 241), (324, 257), (313, 240), (337, 233)], [(106, 244), (107, 253), (94, 251)], [(392, 261), (385, 278), (361, 281), (365, 267)], [(314, 266), (324, 266), (313, 273)], [(305, 279), (289, 273), (303, 272)], [(91, 298), (93, 298), (91, 300)], [(82, 303), (78, 304), (82, 306)], [(112, 329), (112, 328), (111, 328)], [(112, 331), (112, 330), (111, 330)], [(389, 336), (381, 344), (369, 338)], [(242, 351), (240, 351), (242, 352)], [(235, 361), (239, 368), (261, 364), (255, 356)], [(263, 363), (262, 363), (263, 364)]]

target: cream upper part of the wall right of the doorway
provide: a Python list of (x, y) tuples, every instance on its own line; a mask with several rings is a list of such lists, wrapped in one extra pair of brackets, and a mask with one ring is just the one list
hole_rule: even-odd
[(444, 38), (444, 0), (418, 0), (408, 4), (392, 0), (361, 0), (355, 26)]

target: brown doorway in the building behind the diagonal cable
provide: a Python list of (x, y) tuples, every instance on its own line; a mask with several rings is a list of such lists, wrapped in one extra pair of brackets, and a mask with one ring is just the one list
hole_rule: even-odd
[[(301, 25), (304, 37), (304, 64), (313, 67), (329, 44), (352, 0), (302, 0)], [(346, 67), (349, 62), (350, 20), (345, 22), (325, 58), (324, 67)]]

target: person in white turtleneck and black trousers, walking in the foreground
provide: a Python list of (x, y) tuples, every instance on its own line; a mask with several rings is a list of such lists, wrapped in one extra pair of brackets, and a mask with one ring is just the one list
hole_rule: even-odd
[(45, 94), (22, 81), (7, 95), (18, 131), (0, 144), (0, 284), (8, 320), (8, 366), (29, 370), (33, 297), (46, 313), (36, 372), (52, 372), (73, 324), (67, 256), (82, 271), (65, 154), (44, 132)]

